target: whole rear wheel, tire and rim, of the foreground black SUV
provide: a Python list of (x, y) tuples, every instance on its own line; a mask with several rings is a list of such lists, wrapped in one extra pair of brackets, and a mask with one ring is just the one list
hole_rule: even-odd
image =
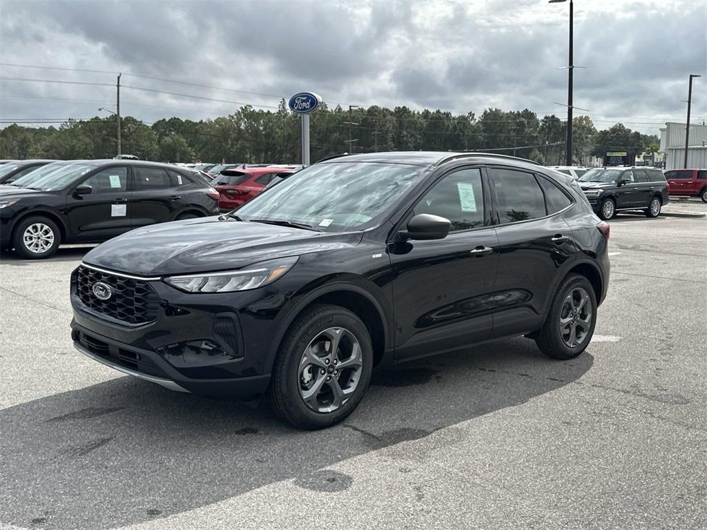
[(535, 342), (553, 359), (573, 359), (589, 346), (597, 323), (597, 298), (587, 278), (571, 274), (560, 284)]

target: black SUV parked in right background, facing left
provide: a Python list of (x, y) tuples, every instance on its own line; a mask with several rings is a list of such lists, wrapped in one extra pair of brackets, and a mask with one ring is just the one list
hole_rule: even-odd
[(597, 167), (578, 182), (600, 218), (609, 220), (618, 210), (643, 210), (658, 217), (667, 204), (665, 175), (654, 167)]

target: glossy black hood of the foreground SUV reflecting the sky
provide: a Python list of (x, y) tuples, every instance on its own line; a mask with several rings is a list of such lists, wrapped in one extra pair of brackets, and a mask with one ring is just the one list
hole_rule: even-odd
[(361, 232), (327, 234), (216, 217), (137, 228), (86, 254), (86, 264), (139, 276), (240, 269), (286, 256), (355, 247)]

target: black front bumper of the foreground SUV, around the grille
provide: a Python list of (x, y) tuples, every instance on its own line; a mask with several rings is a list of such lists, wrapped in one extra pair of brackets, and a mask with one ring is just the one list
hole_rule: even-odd
[(269, 385), (275, 329), (287, 298), (272, 286), (242, 293), (182, 293), (149, 282), (155, 319), (118, 322), (84, 305), (71, 277), (71, 338), (84, 355), (170, 389), (257, 396)]

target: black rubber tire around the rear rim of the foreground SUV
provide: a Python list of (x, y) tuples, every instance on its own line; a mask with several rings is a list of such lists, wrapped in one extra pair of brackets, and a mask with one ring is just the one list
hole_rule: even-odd
[[(566, 299), (570, 293), (577, 293), (578, 290), (583, 290), (588, 295), (589, 299), (585, 303), (590, 304), (591, 316), (588, 319), (590, 322), (582, 340), (576, 346), (571, 347), (568, 346), (566, 339), (560, 331), (560, 320), (563, 318)], [(552, 305), (550, 306), (550, 311), (547, 314), (545, 323), (535, 338), (535, 343), (537, 343), (537, 347), (540, 348), (540, 351), (550, 358), (561, 360), (573, 359), (589, 346), (596, 324), (597, 298), (592, 284), (585, 276), (570, 274), (560, 284), (555, 298), (552, 300)]]

